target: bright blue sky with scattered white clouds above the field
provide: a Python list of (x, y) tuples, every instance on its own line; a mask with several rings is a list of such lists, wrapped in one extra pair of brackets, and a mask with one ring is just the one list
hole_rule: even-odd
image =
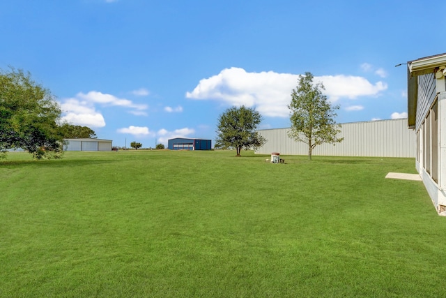
[(0, 68), (31, 72), (63, 119), (116, 146), (215, 140), (233, 105), (289, 127), (311, 72), (337, 122), (406, 117), (406, 66), (446, 52), (444, 1), (0, 2)]

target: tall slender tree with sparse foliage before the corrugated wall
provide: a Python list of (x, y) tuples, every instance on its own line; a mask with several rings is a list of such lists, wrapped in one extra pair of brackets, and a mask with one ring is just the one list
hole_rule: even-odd
[(337, 137), (341, 126), (336, 124), (334, 110), (339, 105), (331, 106), (327, 96), (323, 95), (322, 83), (314, 84), (312, 73), (300, 75), (298, 86), (291, 93), (291, 131), (289, 137), (308, 144), (308, 158), (312, 160), (312, 150), (319, 144), (335, 144), (344, 137)]

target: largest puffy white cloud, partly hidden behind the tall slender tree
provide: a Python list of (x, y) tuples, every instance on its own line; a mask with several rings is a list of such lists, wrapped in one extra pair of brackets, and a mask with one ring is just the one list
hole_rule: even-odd
[[(256, 107), (264, 116), (289, 117), (291, 91), (298, 83), (299, 75), (290, 73), (247, 73), (243, 68), (226, 68), (218, 75), (200, 80), (186, 97), (199, 100), (219, 100), (230, 105)], [(384, 82), (372, 84), (364, 77), (328, 75), (314, 77), (323, 82), (325, 95), (332, 101), (339, 98), (355, 99), (360, 96), (378, 96), (387, 89)]]

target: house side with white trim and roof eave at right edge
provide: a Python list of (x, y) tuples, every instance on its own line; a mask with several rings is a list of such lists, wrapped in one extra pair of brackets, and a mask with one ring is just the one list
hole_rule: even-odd
[[(416, 105), (415, 168), (433, 206), (446, 215), (446, 54), (408, 62), (408, 106)], [(414, 80), (415, 79), (415, 80)], [(410, 110), (409, 110), (410, 112)]]

